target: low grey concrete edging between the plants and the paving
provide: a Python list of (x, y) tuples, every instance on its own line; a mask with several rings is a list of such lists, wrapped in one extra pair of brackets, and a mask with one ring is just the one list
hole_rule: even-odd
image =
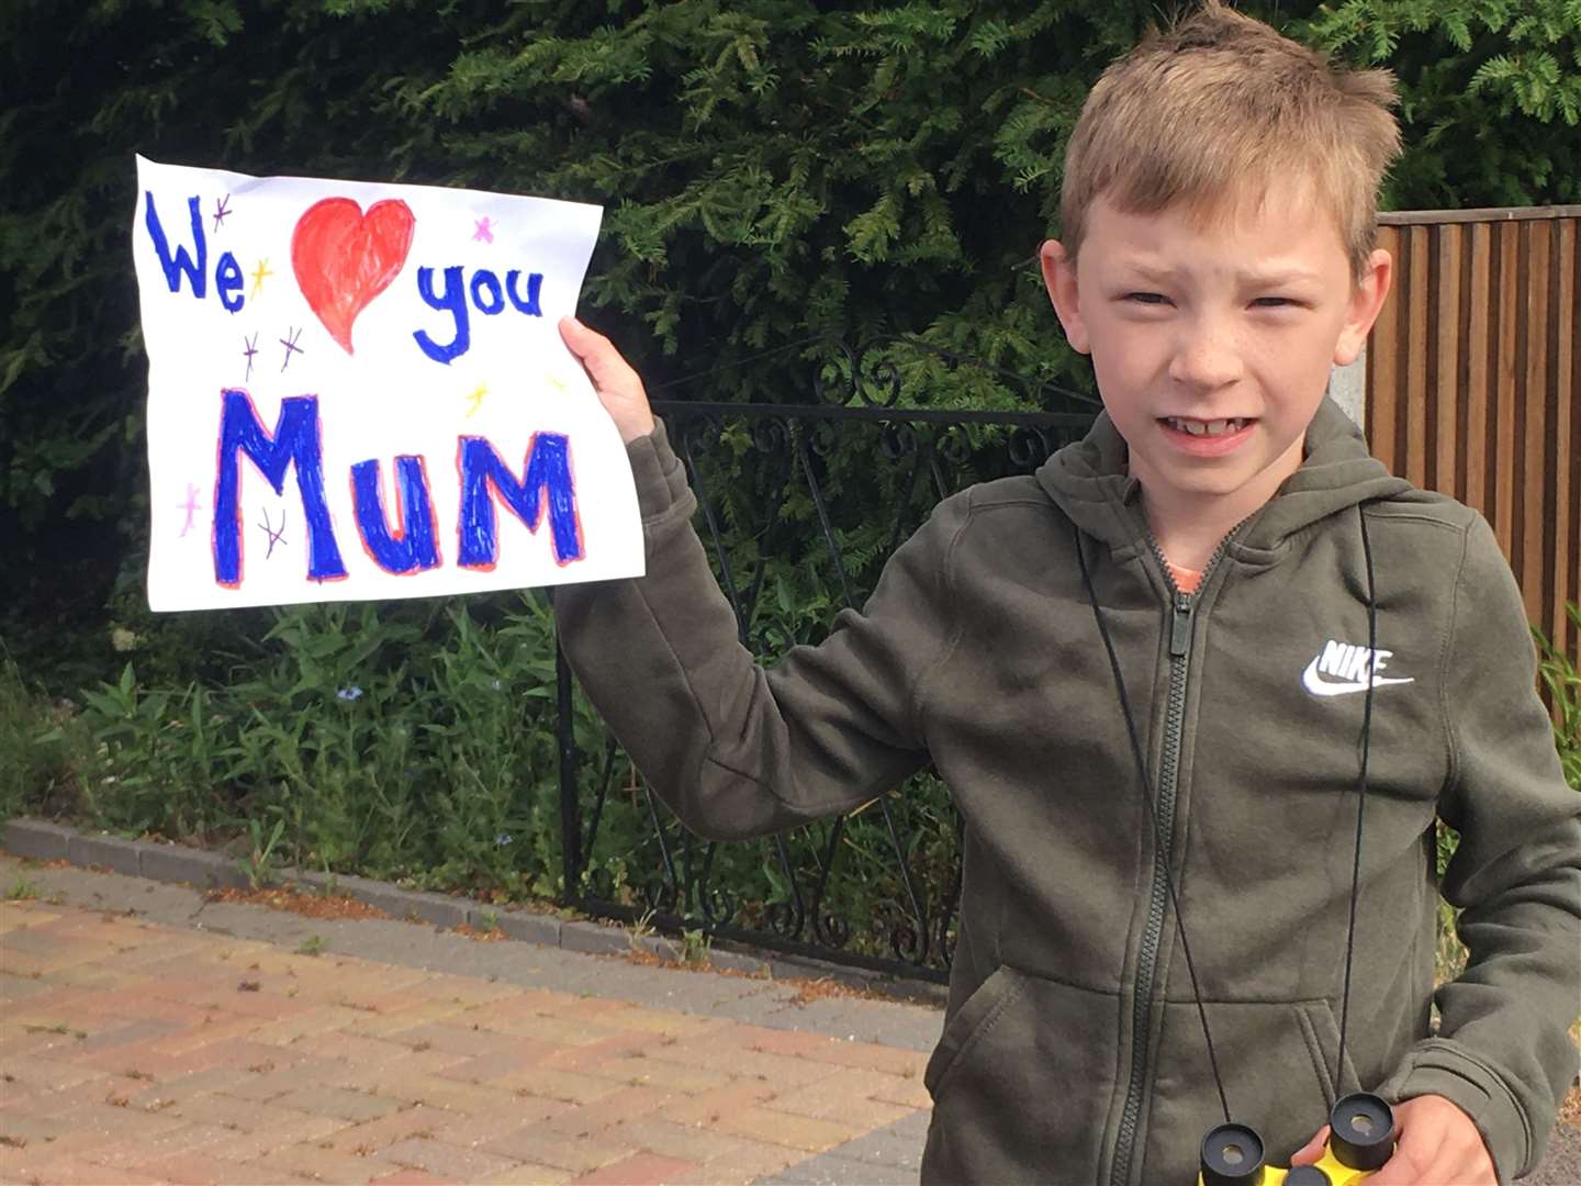
[[(87, 868), (111, 868), (115, 873), (150, 881), (190, 884), (198, 889), (245, 889), (250, 878), (240, 862), (218, 852), (183, 844), (149, 840), (122, 840), (108, 833), (82, 832), (44, 819), (8, 819), (0, 835), (0, 849), (27, 860), (65, 860)], [(686, 946), (664, 935), (632, 931), (613, 923), (561, 919), (511, 906), (485, 906), (470, 898), (427, 890), (409, 890), (386, 881), (343, 873), (313, 870), (274, 870), (275, 882), (318, 893), (354, 898), (394, 919), (430, 922), (455, 930), (501, 930), (508, 938), (544, 947), (593, 955), (629, 955), (643, 952), (667, 963), (686, 963)], [(881, 988), (892, 996), (942, 1003), (944, 988), (925, 980), (904, 982), (863, 973), (858, 968), (790, 960), (781, 955), (757, 955), (751, 950), (710, 947), (708, 966), (715, 971), (745, 973), (772, 979), (830, 979), (862, 988)]]

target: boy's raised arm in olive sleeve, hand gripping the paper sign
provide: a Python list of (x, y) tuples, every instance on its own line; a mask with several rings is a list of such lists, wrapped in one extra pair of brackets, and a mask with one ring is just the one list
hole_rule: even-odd
[(919, 704), (949, 647), (945, 569), (964, 500), (893, 555), (860, 614), (764, 670), (737, 639), (640, 378), (602, 335), (569, 319), (561, 334), (626, 440), (647, 576), (558, 588), (560, 640), (655, 791), (694, 832), (737, 840), (849, 811), (923, 765)]

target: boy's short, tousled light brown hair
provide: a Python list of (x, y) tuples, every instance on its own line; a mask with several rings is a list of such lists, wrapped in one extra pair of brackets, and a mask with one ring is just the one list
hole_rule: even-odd
[(1104, 71), (1066, 149), (1059, 217), (1081, 247), (1099, 196), (1130, 213), (1184, 204), (1208, 221), (1277, 179), (1307, 180), (1360, 277), (1377, 191), (1399, 155), (1394, 76), (1345, 70), (1219, 0), (1149, 35)]

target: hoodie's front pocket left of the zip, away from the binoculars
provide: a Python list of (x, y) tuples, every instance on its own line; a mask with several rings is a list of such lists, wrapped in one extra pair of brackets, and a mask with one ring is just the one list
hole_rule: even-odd
[(1094, 1181), (1118, 1017), (1113, 993), (994, 971), (923, 1072), (934, 1097), (923, 1181)]

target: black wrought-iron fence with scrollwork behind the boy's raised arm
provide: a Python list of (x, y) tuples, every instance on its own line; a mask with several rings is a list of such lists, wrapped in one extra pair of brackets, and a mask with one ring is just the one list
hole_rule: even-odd
[[(655, 400), (697, 493), (697, 531), (738, 637), (772, 664), (858, 606), (933, 504), (1029, 473), (1080, 438), (1089, 397), (887, 338), (840, 346), (809, 403)], [(1040, 411), (938, 406), (987, 392)], [(904, 406), (903, 406), (904, 405)], [(632, 688), (640, 696), (640, 688)], [(558, 661), (566, 905), (898, 976), (945, 980), (961, 822), (917, 775), (849, 816), (760, 841), (696, 838), (651, 792)]]

